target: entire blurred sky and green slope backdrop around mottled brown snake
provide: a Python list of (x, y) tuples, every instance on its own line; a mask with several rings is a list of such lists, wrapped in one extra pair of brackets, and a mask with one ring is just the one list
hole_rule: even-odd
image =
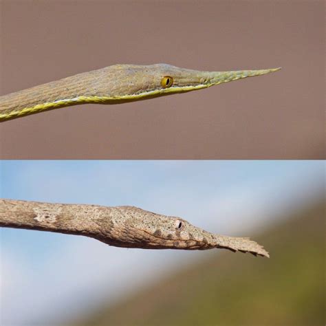
[(325, 162), (0, 161), (5, 198), (132, 205), (227, 250), (142, 250), (1, 228), (0, 325), (325, 325)]

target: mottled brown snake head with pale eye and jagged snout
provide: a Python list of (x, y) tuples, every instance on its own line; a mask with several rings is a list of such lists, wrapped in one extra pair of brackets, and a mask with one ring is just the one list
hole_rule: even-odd
[(113, 219), (111, 226), (111, 243), (100, 239), (112, 244), (112, 236), (117, 236), (119, 243), (114, 241), (114, 246), (182, 250), (224, 248), (233, 252), (250, 252), (269, 257), (263, 247), (248, 238), (215, 235), (193, 226), (180, 217), (159, 215), (132, 206), (120, 206), (116, 209), (118, 215)]

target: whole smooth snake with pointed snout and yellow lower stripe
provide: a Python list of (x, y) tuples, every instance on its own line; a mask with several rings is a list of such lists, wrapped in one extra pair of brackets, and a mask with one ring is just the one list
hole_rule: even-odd
[(0, 122), (72, 105), (119, 104), (184, 93), (278, 69), (202, 72), (166, 64), (111, 65), (0, 96)]

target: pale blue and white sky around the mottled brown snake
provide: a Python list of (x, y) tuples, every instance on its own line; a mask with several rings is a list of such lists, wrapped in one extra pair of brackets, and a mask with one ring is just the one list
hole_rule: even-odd
[[(317, 161), (0, 164), (3, 198), (133, 205), (180, 216), (210, 232), (252, 237), (286, 210), (316, 197), (324, 186), (324, 163)], [(1, 229), (0, 235), (1, 318), (16, 325), (23, 320), (69, 318), (67, 311), (86, 311), (102, 298), (114, 301), (173, 272), (176, 259), (182, 265), (210, 254), (129, 250), (94, 239), (9, 228)]]

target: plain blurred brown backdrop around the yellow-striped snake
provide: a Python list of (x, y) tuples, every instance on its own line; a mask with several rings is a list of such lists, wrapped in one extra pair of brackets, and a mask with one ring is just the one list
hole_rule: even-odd
[(323, 158), (324, 1), (1, 1), (1, 94), (116, 63), (283, 67), (0, 126), (3, 159)]

